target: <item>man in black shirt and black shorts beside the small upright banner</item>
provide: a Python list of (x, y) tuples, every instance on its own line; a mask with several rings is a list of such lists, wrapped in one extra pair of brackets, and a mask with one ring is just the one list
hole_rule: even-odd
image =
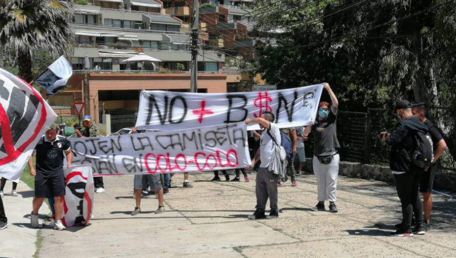
[(67, 166), (71, 166), (73, 154), (70, 143), (59, 136), (59, 127), (53, 123), (46, 131), (46, 135), (36, 144), (36, 170), (33, 168), (33, 154), (28, 160), (30, 176), (35, 177), (35, 194), (33, 211), (31, 212), (31, 226), (39, 227), (38, 210), (45, 198), (54, 197), (55, 223), (54, 229), (65, 230), (62, 224), (63, 196), (65, 195), (65, 177), (63, 176), (63, 159), (65, 153)]

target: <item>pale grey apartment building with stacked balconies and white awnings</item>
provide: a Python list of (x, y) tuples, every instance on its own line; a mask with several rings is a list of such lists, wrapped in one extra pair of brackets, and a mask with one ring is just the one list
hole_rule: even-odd
[[(75, 39), (73, 70), (93, 70), (98, 66), (106, 71), (159, 71), (162, 68), (189, 71), (188, 24), (167, 14), (162, 2), (89, 0), (87, 5), (76, 6), (71, 26)], [(207, 37), (203, 33), (204, 36)], [(145, 63), (144, 67), (141, 63), (123, 62), (140, 52), (162, 62)], [(216, 51), (205, 54), (211, 58), (199, 57), (199, 70), (221, 70), (224, 55)]]

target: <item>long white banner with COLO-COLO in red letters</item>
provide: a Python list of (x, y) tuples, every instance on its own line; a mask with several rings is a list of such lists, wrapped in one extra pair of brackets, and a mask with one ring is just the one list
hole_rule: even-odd
[(94, 176), (179, 173), (250, 165), (245, 122), (146, 134), (71, 138), (72, 164)]

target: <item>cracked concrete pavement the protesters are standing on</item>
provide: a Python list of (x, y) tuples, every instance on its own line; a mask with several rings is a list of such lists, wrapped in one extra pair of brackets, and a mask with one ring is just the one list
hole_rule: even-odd
[[(165, 195), (166, 212), (154, 213), (158, 200), (151, 196), (142, 199), (142, 212), (134, 217), (133, 177), (104, 177), (106, 193), (95, 195), (91, 225), (60, 232), (43, 228), (38, 256), (456, 257), (456, 202), (445, 196), (433, 195), (432, 231), (398, 238), (389, 233), (400, 222), (400, 203), (394, 187), (386, 183), (339, 177), (340, 212), (314, 212), (310, 208), (316, 204), (315, 177), (301, 176), (298, 187), (287, 182), (279, 188), (279, 219), (252, 221), (247, 216), (256, 204), (255, 175), (249, 175), (250, 183), (209, 182), (212, 176), (191, 175), (194, 188), (183, 189), (183, 175), (177, 174), (173, 186), (178, 188)], [(29, 212), (31, 199), (19, 200), (26, 202), (21, 204), (20, 219), (28, 223), (22, 217)], [(7, 212), (8, 236), (16, 239), (11, 242), (33, 246), (34, 240), (10, 234), (18, 227), (11, 225), (16, 221)], [(4, 245), (0, 243), (0, 256)]]

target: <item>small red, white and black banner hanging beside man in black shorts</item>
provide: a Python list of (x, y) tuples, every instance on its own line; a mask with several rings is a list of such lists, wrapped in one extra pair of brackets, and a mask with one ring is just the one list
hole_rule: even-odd
[(65, 196), (62, 223), (66, 227), (87, 225), (93, 217), (93, 178), (91, 165), (65, 167)]

